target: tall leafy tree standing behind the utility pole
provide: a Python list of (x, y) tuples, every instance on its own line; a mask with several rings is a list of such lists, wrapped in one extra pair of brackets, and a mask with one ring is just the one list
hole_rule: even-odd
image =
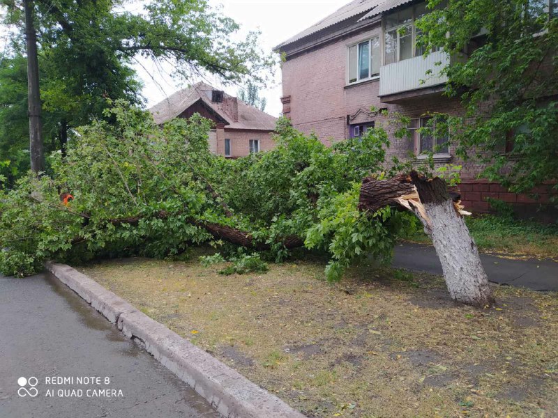
[[(0, 0), (0, 4), (5, 11), (4, 23), (15, 28), (6, 63), (2, 63), (2, 67), (12, 68), (24, 57), (22, 6), (18, 0)], [(133, 65), (142, 65), (142, 59), (155, 62), (159, 68), (172, 64), (174, 75), (181, 79), (211, 74), (225, 83), (244, 82), (248, 75), (262, 82), (273, 64), (257, 47), (257, 33), (231, 40), (238, 38), (239, 25), (204, 0), (153, 1), (137, 13), (126, 11), (126, 5), (126, 1), (113, 0), (35, 2), (47, 150), (52, 150), (53, 144), (64, 150), (75, 127), (102, 118), (107, 98), (141, 104), (142, 84)], [(27, 72), (24, 74), (27, 77)], [(11, 82), (13, 75), (0, 73), (0, 89)], [(29, 141), (29, 128), (15, 126), (22, 123), (19, 116), (8, 117), (26, 115), (27, 101), (3, 105), (10, 109), (0, 112), (0, 141), (9, 138), (23, 149), (23, 142)], [(2, 142), (0, 147), (8, 144)], [(12, 160), (12, 154), (8, 155)], [(10, 166), (14, 173), (27, 168), (18, 159)]]

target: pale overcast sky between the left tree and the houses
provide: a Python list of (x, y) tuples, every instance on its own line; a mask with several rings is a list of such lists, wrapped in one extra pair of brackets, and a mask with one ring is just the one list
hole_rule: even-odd
[[(287, 40), (308, 26), (330, 15), (349, 0), (209, 0), (213, 6), (222, 4), (223, 13), (241, 24), (243, 31), (259, 29), (262, 31), (261, 47), (265, 52), (280, 42)], [(142, 77), (145, 88), (144, 96), (148, 106), (163, 100), (167, 95), (181, 88), (171, 77), (144, 63), (145, 68), (137, 65), (137, 71)], [(282, 104), (280, 70), (276, 74), (276, 86), (262, 91), (267, 98), (266, 112), (279, 116)], [(209, 79), (212, 84), (216, 80)], [(227, 93), (236, 95), (238, 87), (225, 87)]]

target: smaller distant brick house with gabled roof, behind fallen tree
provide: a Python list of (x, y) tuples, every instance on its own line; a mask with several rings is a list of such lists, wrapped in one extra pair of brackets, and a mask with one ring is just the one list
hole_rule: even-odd
[(209, 149), (225, 157), (243, 157), (275, 146), (271, 135), (276, 118), (209, 84), (177, 91), (149, 111), (158, 124), (195, 113), (210, 119), (215, 127), (209, 132)]

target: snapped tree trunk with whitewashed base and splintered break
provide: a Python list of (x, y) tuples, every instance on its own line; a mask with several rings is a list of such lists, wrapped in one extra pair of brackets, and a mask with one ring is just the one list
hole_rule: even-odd
[(441, 178), (427, 179), (413, 171), (392, 180), (365, 178), (359, 208), (375, 212), (385, 206), (405, 208), (421, 220), (442, 263), (453, 300), (483, 307), (494, 298), (488, 277), (469, 234), (458, 197), (452, 199)]

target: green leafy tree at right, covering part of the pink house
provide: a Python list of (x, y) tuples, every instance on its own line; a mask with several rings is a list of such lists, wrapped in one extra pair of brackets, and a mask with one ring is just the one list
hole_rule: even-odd
[[(550, 4), (549, 4), (550, 3)], [(558, 5), (548, 0), (428, 0), (418, 42), (443, 47), (446, 94), (465, 114), (449, 118), (457, 154), (513, 192), (558, 178)], [(550, 6), (550, 9), (549, 9)], [(557, 188), (557, 186), (555, 186)]]

